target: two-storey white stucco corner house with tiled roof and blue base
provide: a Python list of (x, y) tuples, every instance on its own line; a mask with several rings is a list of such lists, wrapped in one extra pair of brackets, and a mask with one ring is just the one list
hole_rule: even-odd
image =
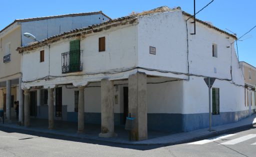
[(22, 88), (36, 92), (37, 117), (78, 117), (78, 131), (84, 122), (101, 123), (100, 136), (113, 136), (113, 124), (123, 124), (131, 113), (136, 140), (145, 139), (147, 129), (208, 127), (208, 76), (216, 78), (212, 125), (247, 116), (244, 79), (231, 44), (236, 37), (199, 19), (196, 34), (190, 34), (190, 16), (163, 6), (19, 47)]

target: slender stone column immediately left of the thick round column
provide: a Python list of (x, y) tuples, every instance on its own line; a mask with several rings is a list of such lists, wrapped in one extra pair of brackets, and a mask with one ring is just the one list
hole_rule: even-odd
[(83, 132), (84, 129), (84, 87), (80, 86), (78, 95), (78, 130), (77, 132)]

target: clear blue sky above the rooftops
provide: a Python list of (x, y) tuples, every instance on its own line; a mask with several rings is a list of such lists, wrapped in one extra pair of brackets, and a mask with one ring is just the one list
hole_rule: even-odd
[[(198, 11), (211, 0), (195, 0)], [(193, 0), (1, 0), (0, 29), (14, 19), (102, 10), (111, 18), (166, 5), (192, 14)], [(256, 25), (256, 0), (214, 0), (196, 17), (235, 32), (237, 37)], [(256, 28), (238, 41), (239, 60), (256, 66)]]

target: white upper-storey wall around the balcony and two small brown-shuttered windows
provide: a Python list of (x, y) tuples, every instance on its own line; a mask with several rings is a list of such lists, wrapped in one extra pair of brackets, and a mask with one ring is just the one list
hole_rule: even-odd
[[(80, 49), (83, 50), (83, 73), (101, 72), (117, 68), (136, 66), (135, 51), (136, 26), (108, 30), (88, 36), (80, 40)], [(98, 38), (105, 36), (105, 51), (98, 51)], [(61, 53), (69, 51), (69, 40), (56, 42), (50, 46), (50, 75), (63, 76), (61, 71)], [(39, 62), (40, 50), (44, 49), (44, 62)], [(48, 47), (44, 46), (22, 55), (23, 81), (35, 80), (48, 75)], [(39, 70), (38, 70), (39, 69)], [(81, 72), (80, 72), (81, 73)], [(67, 79), (67, 81), (72, 82)], [(58, 82), (54, 82), (58, 84)], [(24, 85), (24, 83), (23, 83)]]

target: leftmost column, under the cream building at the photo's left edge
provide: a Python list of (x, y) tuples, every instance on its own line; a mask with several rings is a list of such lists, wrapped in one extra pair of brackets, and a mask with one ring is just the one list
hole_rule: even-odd
[(6, 80), (6, 118), (11, 121), (11, 80)]

